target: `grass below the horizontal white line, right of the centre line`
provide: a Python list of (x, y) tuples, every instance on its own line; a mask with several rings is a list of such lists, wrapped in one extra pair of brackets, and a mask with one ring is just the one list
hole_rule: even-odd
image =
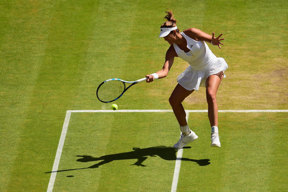
[[(194, 118), (201, 116), (197, 114)], [(199, 139), (191, 144), (193, 150), (184, 150), (183, 157), (210, 159), (211, 164), (192, 166), (182, 161), (179, 191), (186, 191), (187, 181), (192, 191), (286, 191), (288, 154), (283, 147), (288, 144), (284, 130), (286, 116), (220, 113), (220, 126), (225, 127), (220, 133), (221, 149), (208, 146), (209, 129), (202, 128), (208, 123), (206, 120), (193, 123)]]

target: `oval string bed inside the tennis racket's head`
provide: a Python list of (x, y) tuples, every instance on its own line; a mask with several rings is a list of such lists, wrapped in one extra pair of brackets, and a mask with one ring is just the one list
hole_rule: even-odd
[(111, 80), (107, 81), (99, 87), (98, 98), (101, 101), (109, 102), (118, 98), (124, 91), (125, 84), (122, 81)]

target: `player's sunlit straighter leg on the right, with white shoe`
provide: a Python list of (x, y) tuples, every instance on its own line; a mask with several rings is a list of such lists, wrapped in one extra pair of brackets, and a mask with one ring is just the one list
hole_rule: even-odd
[(206, 99), (208, 103), (208, 118), (211, 125), (211, 146), (220, 147), (219, 133), (218, 133), (218, 107), (216, 94), (223, 79), (223, 72), (215, 75), (210, 75), (206, 79)]

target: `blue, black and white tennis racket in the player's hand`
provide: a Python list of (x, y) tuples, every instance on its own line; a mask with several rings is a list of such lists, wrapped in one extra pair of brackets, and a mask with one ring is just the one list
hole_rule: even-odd
[(97, 98), (104, 103), (113, 102), (119, 99), (132, 85), (146, 81), (146, 79), (147, 78), (142, 78), (136, 81), (108, 79), (98, 86), (96, 92)]

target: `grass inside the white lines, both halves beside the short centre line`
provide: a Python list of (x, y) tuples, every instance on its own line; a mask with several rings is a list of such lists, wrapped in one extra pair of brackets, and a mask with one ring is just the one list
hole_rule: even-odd
[[(145, 126), (127, 123), (128, 115)], [(288, 144), (286, 113), (220, 113), (226, 128), (221, 148), (210, 147), (208, 120), (195, 123), (203, 113), (189, 116), (199, 139), (184, 149), (178, 191), (287, 190), (288, 153), (281, 149)], [(178, 136), (172, 117), (171, 112), (73, 113), (54, 191), (170, 191), (177, 151), (170, 145)], [(151, 126), (160, 130), (157, 137)]]

